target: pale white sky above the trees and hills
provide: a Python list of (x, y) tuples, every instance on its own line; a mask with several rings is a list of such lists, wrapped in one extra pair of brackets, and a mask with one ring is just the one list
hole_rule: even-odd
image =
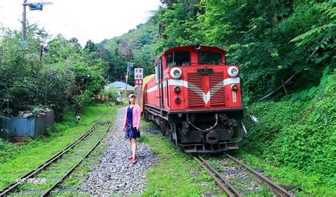
[[(145, 23), (156, 11), (159, 0), (28, 0), (28, 3), (47, 3), (43, 11), (30, 11), (27, 6), (28, 23), (37, 23), (55, 37), (76, 37), (82, 46), (87, 40), (100, 43)], [(23, 0), (0, 0), (0, 26), (21, 30)]]

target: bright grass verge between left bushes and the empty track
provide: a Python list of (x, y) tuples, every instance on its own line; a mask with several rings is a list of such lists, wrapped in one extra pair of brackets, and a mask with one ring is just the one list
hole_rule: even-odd
[[(112, 115), (120, 106), (108, 106), (107, 103), (87, 106), (82, 113), (79, 124), (74, 124), (74, 115), (69, 114), (61, 123), (56, 123), (57, 131), (50, 137), (38, 137), (30, 140), (26, 145), (12, 145), (8, 142), (0, 142), (0, 188), (15, 181), (31, 169), (43, 164), (47, 159), (60, 152), (67, 145), (94, 125), (94, 120), (108, 111)], [(111, 111), (109, 111), (111, 109)], [(105, 116), (103, 121), (110, 120), (111, 116)]]

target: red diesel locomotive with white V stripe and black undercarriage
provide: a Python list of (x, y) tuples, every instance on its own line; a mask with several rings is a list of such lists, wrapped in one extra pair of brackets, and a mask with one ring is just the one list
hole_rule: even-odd
[(225, 50), (189, 45), (162, 52), (144, 84), (144, 114), (184, 152), (238, 149), (243, 118), (239, 67)]

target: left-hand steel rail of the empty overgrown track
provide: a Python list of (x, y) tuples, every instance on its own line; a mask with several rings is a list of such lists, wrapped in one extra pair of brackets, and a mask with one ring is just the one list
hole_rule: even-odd
[(96, 123), (94, 123), (94, 125), (86, 133), (84, 133), (84, 135), (82, 135), (76, 141), (72, 142), (70, 145), (65, 147), (65, 149), (61, 150), (60, 152), (57, 152), (57, 154), (52, 156), (50, 159), (47, 159), (47, 161), (45, 161), (43, 164), (40, 164), (35, 169), (33, 169), (33, 170), (29, 171), (27, 174), (24, 174), (23, 176), (21, 176), (18, 179), (18, 181), (13, 181), (11, 184), (2, 188), (1, 191), (0, 191), (0, 196), (5, 196), (5, 195), (9, 194), (11, 191), (13, 191), (14, 188), (16, 188), (20, 184), (21, 180), (26, 180), (26, 179), (30, 179), (30, 178), (34, 177), (36, 174), (38, 174), (38, 172), (40, 172), (43, 169), (45, 169), (46, 167), (50, 166), (50, 164), (52, 164), (52, 162), (55, 162), (57, 159), (62, 157), (63, 154), (68, 152), (72, 147), (74, 147), (80, 141), (82, 141), (87, 135), (92, 133), (92, 131), (94, 131), (94, 129), (96, 128), (96, 125), (99, 123), (101, 118), (103, 118), (103, 116), (106, 115), (106, 113), (103, 113), (103, 115), (98, 120), (96, 120)]

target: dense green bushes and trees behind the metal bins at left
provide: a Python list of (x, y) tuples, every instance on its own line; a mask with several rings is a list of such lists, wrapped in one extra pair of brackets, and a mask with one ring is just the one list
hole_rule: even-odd
[[(58, 119), (72, 101), (86, 106), (106, 84), (103, 76), (108, 63), (99, 57), (96, 45), (89, 41), (82, 50), (76, 38), (57, 35), (41, 56), (40, 44), (48, 35), (35, 25), (28, 29), (24, 46), (19, 41), (21, 33), (11, 30), (0, 42), (1, 112), (16, 115), (29, 106), (49, 106)], [(87, 74), (86, 81), (78, 79)]]

